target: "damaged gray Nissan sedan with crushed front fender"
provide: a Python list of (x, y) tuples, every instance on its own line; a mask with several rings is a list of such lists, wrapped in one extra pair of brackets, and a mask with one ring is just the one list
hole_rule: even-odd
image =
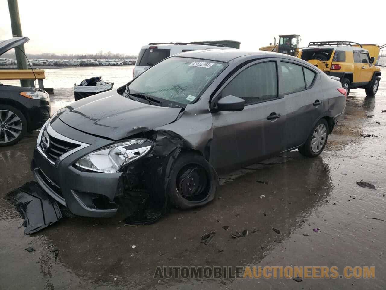
[(59, 110), (31, 168), (76, 215), (109, 217), (143, 196), (193, 208), (213, 200), (219, 172), (294, 148), (319, 155), (345, 105), (340, 83), (298, 58), (190, 51)]

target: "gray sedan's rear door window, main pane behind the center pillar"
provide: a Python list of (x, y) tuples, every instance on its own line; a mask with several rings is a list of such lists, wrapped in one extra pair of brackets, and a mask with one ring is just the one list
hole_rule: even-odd
[(289, 62), (280, 62), (283, 75), (283, 94), (291, 94), (306, 88), (303, 67)]

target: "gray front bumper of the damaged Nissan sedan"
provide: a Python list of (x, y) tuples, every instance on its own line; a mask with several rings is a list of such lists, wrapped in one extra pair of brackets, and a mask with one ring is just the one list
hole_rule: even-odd
[[(88, 142), (86, 148), (78, 150), (53, 164), (37, 147), (31, 162), (31, 169), (39, 185), (52, 198), (68, 207), (75, 215), (86, 217), (112, 217), (117, 212), (114, 203), (122, 173), (99, 173), (81, 171), (73, 164), (83, 155), (111, 143), (68, 127), (58, 118), (51, 121), (51, 128), (61, 135), (78, 142)], [(43, 128), (42, 128), (43, 129)]]

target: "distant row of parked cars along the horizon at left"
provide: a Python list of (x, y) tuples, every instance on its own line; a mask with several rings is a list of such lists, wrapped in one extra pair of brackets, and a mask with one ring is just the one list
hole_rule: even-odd
[[(136, 60), (44, 60), (29, 59), (31, 65), (49, 67), (99, 67), (108, 65), (135, 65)], [(16, 65), (15, 59), (1, 58), (0, 65)]]

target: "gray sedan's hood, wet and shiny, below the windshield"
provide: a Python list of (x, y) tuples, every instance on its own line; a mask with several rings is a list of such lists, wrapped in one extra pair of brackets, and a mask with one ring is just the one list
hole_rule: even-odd
[(153, 106), (109, 90), (73, 102), (60, 109), (58, 117), (74, 129), (120, 140), (172, 123), (180, 112), (181, 108)]

